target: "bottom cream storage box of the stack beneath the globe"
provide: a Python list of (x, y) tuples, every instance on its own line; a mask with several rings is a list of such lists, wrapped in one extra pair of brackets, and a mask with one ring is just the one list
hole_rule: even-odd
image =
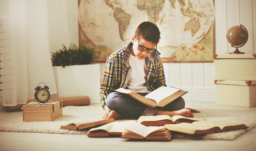
[(215, 84), (217, 105), (256, 106), (256, 81), (215, 80)]

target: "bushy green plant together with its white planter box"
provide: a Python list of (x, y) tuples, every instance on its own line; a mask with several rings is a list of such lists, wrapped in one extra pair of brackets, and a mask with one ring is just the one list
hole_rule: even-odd
[(52, 53), (52, 66), (58, 97), (89, 96), (91, 103), (99, 103), (99, 64), (93, 63), (100, 51), (70, 43)]

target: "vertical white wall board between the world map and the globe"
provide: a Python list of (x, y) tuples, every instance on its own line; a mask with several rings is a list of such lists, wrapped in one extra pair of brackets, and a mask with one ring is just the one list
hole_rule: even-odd
[(216, 54), (227, 52), (227, 3), (226, 0), (215, 0), (215, 42)]

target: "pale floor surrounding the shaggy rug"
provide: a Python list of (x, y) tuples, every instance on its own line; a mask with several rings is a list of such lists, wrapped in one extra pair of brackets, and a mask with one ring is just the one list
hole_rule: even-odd
[[(189, 108), (256, 110), (187, 102)], [(22, 112), (4, 113), (0, 121), (21, 117)], [(170, 142), (130, 141), (120, 138), (88, 138), (86, 135), (0, 132), (0, 151), (256, 151), (256, 128), (236, 140), (186, 140)]]

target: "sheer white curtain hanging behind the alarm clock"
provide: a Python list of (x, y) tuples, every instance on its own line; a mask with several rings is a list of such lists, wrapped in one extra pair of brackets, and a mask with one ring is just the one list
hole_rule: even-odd
[(48, 85), (50, 94), (57, 93), (47, 13), (47, 0), (9, 0), (10, 36), (0, 48), (3, 106), (33, 99), (41, 82)]

